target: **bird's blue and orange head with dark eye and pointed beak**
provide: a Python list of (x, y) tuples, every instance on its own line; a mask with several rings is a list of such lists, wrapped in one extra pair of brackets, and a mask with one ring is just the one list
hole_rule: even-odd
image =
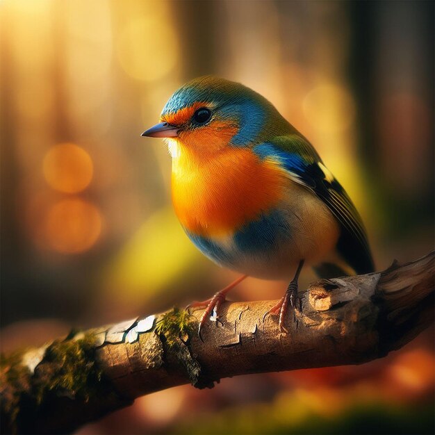
[(292, 128), (270, 102), (240, 83), (214, 76), (189, 81), (167, 101), (160, 123), (142, 136), (166, 138), (172, 157), (207, 157), (250, 147)]

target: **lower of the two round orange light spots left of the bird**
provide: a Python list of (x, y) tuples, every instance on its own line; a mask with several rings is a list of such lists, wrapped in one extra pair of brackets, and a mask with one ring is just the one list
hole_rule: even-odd
[(101, 214), (97, 207), (72, 198), (51, 207), (45, 221), (47, 245), (64, 254), (88, 250), (101, 233)]

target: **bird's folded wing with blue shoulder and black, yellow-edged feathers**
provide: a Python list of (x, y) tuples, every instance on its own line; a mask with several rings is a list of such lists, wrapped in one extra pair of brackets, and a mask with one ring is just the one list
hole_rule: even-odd
[(372, 254), (361, 217), (308, 140), (296, 134), (279, 136), (257, 145), (254, 151), (263, 158), (276, 158), (293, 181), (312, 190), (327, 204), (340, 224), (338, 253), (356, 273), (373, 272)]

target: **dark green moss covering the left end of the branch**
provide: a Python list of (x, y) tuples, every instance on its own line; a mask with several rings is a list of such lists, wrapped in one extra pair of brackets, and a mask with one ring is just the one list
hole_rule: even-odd
[(25, 353), (1, 356), (2, 433), (34, 432), (35, 422), (53, 419), (54, 409), (61, 406), (59, 397), (79, 404), (115, 395), (95, 362), (92, 333), (69, 334), (65, 340), (51, 343), (33, 373), (23, 365)]

